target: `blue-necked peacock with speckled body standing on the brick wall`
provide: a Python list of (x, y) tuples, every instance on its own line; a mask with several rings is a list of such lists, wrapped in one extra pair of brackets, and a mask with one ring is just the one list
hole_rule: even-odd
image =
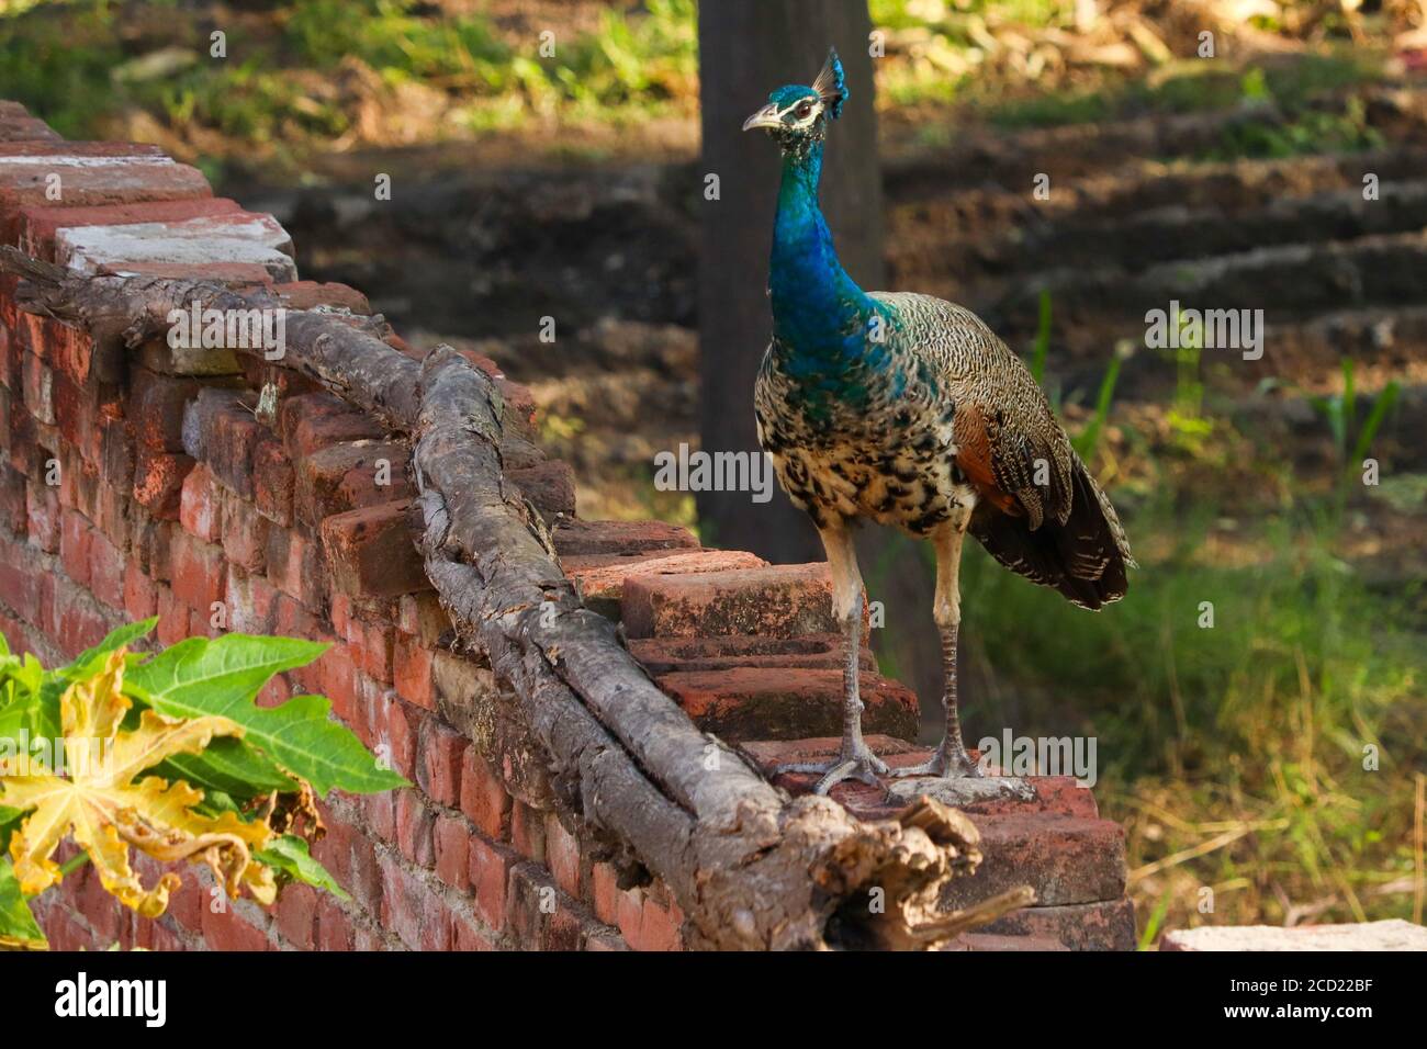
[[(842, 268), (818, 207), (823, 140), (848, 100), (835, 50), (811, 87), (788, 84), (743, 123), (782, 150), (768, 278), (773, 335), (753, 391), (758, 440), (779, 485), (828, 552), (846, 638), (835, 759), (779, 771), (855, 778), (980, 775), (956, 709), (958, 571), (969, 531), (1006, 568), (1082, 608), (1124, 597), (1134, 567), (1114, 508), (1076, 455), (1030, 371), (960, 305), (863, 291)], [(859, 521), (929, 539), (946, 729), (930, 761), (890, 772), (862, 736)]]

